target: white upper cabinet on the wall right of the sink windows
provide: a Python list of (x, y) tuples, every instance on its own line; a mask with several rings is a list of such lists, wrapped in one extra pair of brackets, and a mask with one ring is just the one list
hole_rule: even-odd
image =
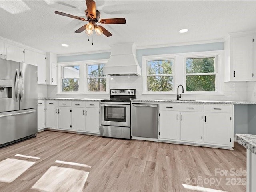
[(243, 32), (224, 39), (225, 82), (254, 80), (254, 38), (254, 32)]

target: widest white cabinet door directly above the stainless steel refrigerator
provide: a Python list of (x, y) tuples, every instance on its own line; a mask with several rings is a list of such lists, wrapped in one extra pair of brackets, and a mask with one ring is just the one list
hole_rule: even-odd
[(7, 60), (12, 60), (16, 62), (24, 62), (24, 49), (18, 46), (14, 46), (8, 43), (4, 43), (4, 54)]

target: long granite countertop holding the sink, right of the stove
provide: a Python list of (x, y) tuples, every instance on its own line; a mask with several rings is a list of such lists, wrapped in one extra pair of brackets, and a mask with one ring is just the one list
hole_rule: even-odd
[(162, 99), (134, 99), (132, 102), (156, 102), (156, 103), (195, 103), (195, 104), (236, 104), (236, 105), (256, 105), (252, 101), (208, 101), (208, 100), (162, 100)]

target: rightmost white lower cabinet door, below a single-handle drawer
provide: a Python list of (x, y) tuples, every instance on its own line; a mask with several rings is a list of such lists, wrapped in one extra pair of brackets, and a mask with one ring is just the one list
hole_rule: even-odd
[(232, 145), (232, 121), (230, 120), (230, 114), (206, 112), (204, 115), (204, 142)]

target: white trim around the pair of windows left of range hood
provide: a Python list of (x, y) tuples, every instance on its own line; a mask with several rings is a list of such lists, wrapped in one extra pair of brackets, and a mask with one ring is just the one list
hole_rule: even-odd
[[(87, 82), (86, 82), (86, 74), (87, 74), (87, 65), (88, 64), (104, 64), (108, 61), (108, 59), (101, 59), (101, 60), (86, 60), (86, 61), (78, 61), (78, 62), (61, 62), (58, 63), (58, 82), (57, 82), (57, 89), (58, 93), (57, 94), (99, 94), (99, 95), (104, 95), (107, 94), (109, 95), (109, 76), (106, 76), (106, 92), (88, 92), (87, 90)], [(80, 70), (79, 70), (79, 90), (76, 92), (66, 92), (62, 91), (62, 81), (61, 81), (61, 68), (62, 66), (74, 66), (74, 65), (79, 65)]]

